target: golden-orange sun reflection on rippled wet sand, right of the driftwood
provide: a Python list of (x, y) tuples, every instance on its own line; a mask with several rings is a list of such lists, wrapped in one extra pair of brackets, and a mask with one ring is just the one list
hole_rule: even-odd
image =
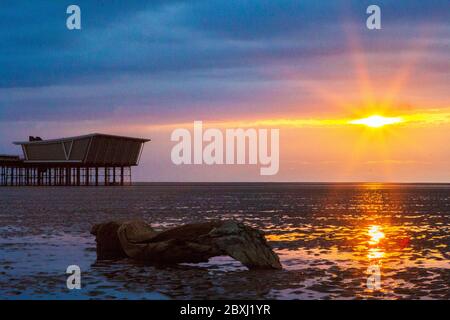
[[(353, 229), (330, 225), (302, 225), (297, 228), (288, 227), (284, 233), (277, 230), (267, 238), (280, 243), (317, 243), (313, 248), (306, 246), (297, 247), (295, 250), (276, 251), (285, 270), (307, 274), (308, 277), (319, 277), (321, 280), (318, 283), (321, 285), (311, 285), (312, 288), (331, 295), (333, 290), (345, 291), (347, 286), (356, 286), (361, 290), (357, 295), (361, 298), (371, 298), (374, 295), (399, 298), (402, 297), (402, 292), (417, 287), (417, 281), (422, 284), (436, 281), (434, 279), (439, 274), (431, 272), (432, 268), (450, 269), (449, 261), (437, 248), (417, 251), (409, 245), (410, 226), (407, 223), (391, 225), (388, 222), (381, 223), (381, 219), (376, 216), (372, 218), (372, 221), (378, 224), (358, 224)], [(416, 230), (416, 239), (423, 239), (422, 226), (416, 226)], [(345, 240), (341, 245), (326, 246), (326, 241), (335, 242), (337, 239)], [(367, 287), (369, 267), (377, 267), (381, 272), (379, 287)], [(403, 278), (401, 270), (409, 268), (417, 270), (420, 280)], [(310, 285), (304, 281), (302, 286), (301, 290), (290, 292), (286, 289), (282, 294), (305, 298), (308, 294), (306, 289)]]

